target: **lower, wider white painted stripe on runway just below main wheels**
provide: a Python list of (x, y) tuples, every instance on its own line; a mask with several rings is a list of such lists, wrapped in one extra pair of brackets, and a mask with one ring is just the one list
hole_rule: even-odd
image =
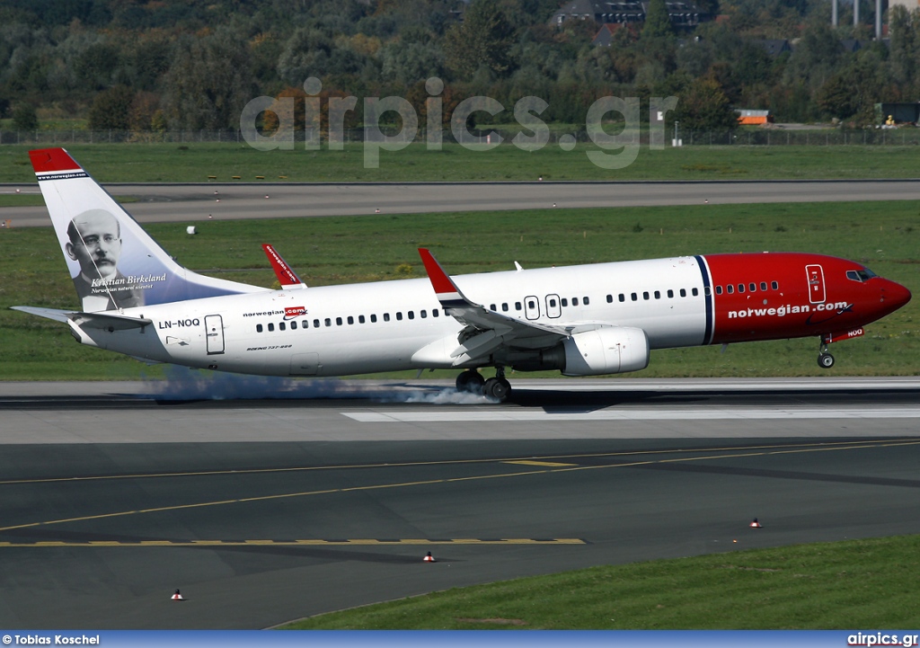
[(594, 421), (727, 421), (727, 420), (796, 420), (796, 419), (920, 419), (920, 407), (881, 409), (824, 408), (714, 408), (698, 410), (431, 410), (431, 411), (343, 411), (353, 421), (385, 422), (594, 422)]

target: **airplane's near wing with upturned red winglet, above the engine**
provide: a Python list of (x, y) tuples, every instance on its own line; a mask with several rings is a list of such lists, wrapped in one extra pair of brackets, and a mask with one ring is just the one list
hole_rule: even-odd
[(451, 357), (457, 359), (457, 364), (489, 355), (501, 346), (518, 349), (548, 348), (571, 335), (572, 327), (510, 318), (470, 301), (428, 249), (420, 248), (419, 254), (441, 306), (448, 315), (466, 325), (458, 339), (460, 345), (451, 353)]

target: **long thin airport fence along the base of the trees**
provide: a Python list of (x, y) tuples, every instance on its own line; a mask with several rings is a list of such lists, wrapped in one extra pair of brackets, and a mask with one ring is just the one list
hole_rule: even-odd
[[(670, 131), (670, 129), (669, 129)], [(615, 127), (611, 130), (616, 133)], [(470, 135), (478, 137), (480, 144), (495, 144), (502, 142), (511, 144), (514, 136), (522, 133), (520, 129), (493, 128), (489, 130), (472, 131)], [(392, 135), (381, 133), (377, 129), (348, 129), (336, 134), (332, 141), (341, 143), (350, 142), (382, 142), (388, 137), (390, 143), (405, 143), (415, 141), (425, 143), (428, 141), (424, 129), (419, 129), (414, 137), (408, 135), (397, 138), (399, 133)], [(524, 136), (533, 133), (524, 131)], [(499, 139), (500, 137), (500, 139)], [(649, 145), (649, 133), (643, 131), (639, 134), (639, 144)], [(733, 130), (722, 132), (690, 131), (679, 132), (680, 145), (684, 146), (834, 146), (834, 145), (879, 145), (879, 146), (904, 146), (920, 145), (920, 128), (913, 126), (897, 129), (871, 128), (862, 130), (843, 129), (757, 129)], [(591, 142), (589, 133), (579, 131), (575, 133), (548, 133), (549, 145), (577, 142)], [(303, 146), (309, 141), (314, 145), (328, 145), (329, 138), (326, 133), (320, 137), (317, 133), (294, 133), (294, 142)], [(442, 133), (442, 141), (455, 143), (454, 134), (449, 129)], [(39, 145), (63, 146), (73, 144), (176, 144), (190, 145), (195, 143), (236, 143), (245, 144), (246, 139), (240, 131), (167, 131), (163, 133), (144, 133), (132, 131), (86, 131), (86, 130), (40, 130), (40, 131), (0, 131), (0, 145)], [(666, 133), (664, 144), (674, 145), (673, 132)]]

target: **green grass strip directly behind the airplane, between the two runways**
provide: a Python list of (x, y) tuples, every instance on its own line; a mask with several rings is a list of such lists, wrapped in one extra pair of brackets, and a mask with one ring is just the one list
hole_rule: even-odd
[[(418, 247), (452, 274), (741, 251), (811, 251), (859, 260), (920, 293), (920, 202), (834, 202), (629, 207), (529, 212), (403, 214), (148, 226), (190, 269), (269, 287), (259, 244), (274, 243), (309, 285), (424, 276)], [(638, 225), (638, 227), (637, 227)], [(641, 229), (641, 231), (636, 231)], [(473, 232), (475, 234), (471, 235)], [(129, 358), (80, 346), (67, 327), (10, 306), (76, 306), (51, 228), (0, 230), (0, 379), (159, 376)], [(920, 373), (920, 300), (834, 345), (837, 364), (818, 367), (813, 338), (653, 352), (627, 376), (915, 376)], [(436, 372), (431, 377), (454, 376)], [(392, 376), (408, 376), (397, 374)], [(525, 374), (522, 376), (541, 376)], [(558, 376), (546, 374), (543, 376)]]

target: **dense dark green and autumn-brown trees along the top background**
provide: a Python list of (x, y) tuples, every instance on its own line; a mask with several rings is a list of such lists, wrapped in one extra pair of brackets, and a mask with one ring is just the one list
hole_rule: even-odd
[[(857, 2), (861, 0), (856, 0)], [(829, 0), (707, 0), (719, 19), (675, 33), (653, 0), (644, 25), (592, 45), (592, 20), (550, 24), (557, 0), (6, 0), (0, 7), (0, 117), (39, 116), (93, 130), (236, 129), (259, 96), (408, 98), (443, 80), (444, 114), (483, 95), (506, 108), (537, 96), (545, 122), (583, 124), (596, 98), (676, 96), (685, 128), (730, 128), (734, 108), (777, 121), (873, 120), (881, 101), (920, 99), (920, 12), (886, 12), (889, 41), (830, 27)], [(847, 21), (845, 7), (841, 24)], [(851, 9), (850, 9), (851, 10)], [(847, 52), (843, 39), (864, 47)], [(771, 56), (765, 39), (792, 52)], [(480, 120), (513, 120), (511, 110)]]

